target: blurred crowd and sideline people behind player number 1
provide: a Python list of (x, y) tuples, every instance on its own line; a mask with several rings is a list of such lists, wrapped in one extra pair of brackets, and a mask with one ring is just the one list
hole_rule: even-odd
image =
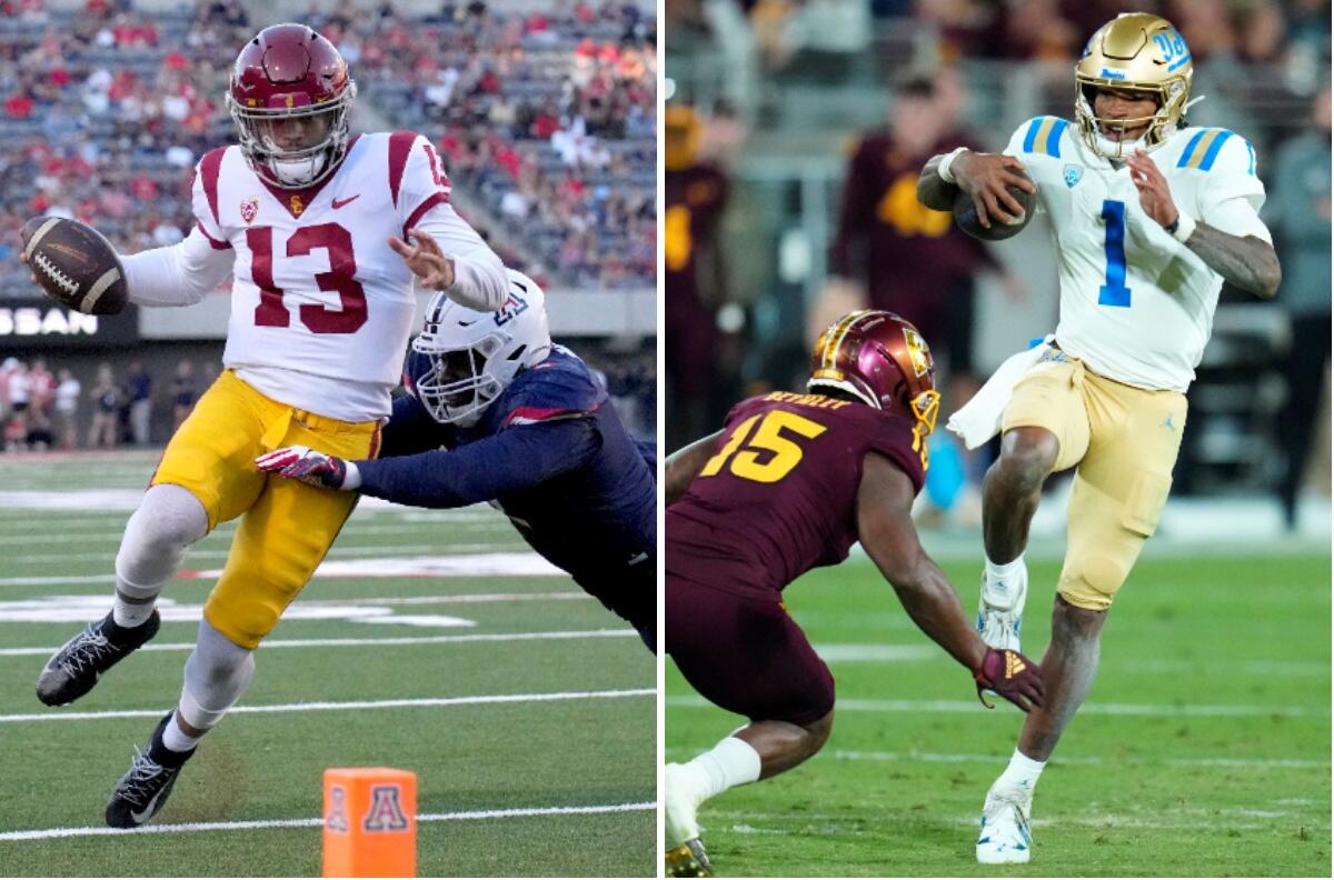
[[(982, 247), (926, 211), (915, 180), (934, 153), (999, 151), (1033, 116), (1070, 119), (1085, 41), (1133, 11), (1169, 17), (1190, 45), (1191, 95), (1207, 100), (1189, 123), (1254, 143), (1283, 263), (1273, 304), (1223, 292), (1177, 484), (1273, 491), (1291, 524), (1314, 459), (1327, 493), (1325, 0), (667, 0), (666, 216), (690, 211), (692, 243), (690, 280), (674, 279), (668, 223), (668, 449), (714, 429), (740, 396), (796, 381), (818, 329), (850, 308), (919, 323), (946, 412), (1011, 341), (1050, 331), (1046, 236)], [(706, 204), (698, 181), (708, 175), (722, 197)], [(712, 360), (674, 357), (687, 333), (690, 352)], [(988, 457), (960, 455), (943, 431), (934, 443), (927, 495), (975, 515)]]

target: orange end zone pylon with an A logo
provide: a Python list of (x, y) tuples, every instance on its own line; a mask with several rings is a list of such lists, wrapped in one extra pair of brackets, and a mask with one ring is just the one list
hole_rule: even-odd
[(416, 876), (416, 773), (324, 771), (324, 876)]

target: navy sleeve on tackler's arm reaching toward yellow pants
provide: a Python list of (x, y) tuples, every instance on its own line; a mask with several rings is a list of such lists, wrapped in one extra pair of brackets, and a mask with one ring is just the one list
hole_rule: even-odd
[(358, 461), (356, 467), (366, 495), (450, 508), (532, 488), (580, 467), (599, 447), (592, 419), (560, 419), (507, 428), (455, 449)]

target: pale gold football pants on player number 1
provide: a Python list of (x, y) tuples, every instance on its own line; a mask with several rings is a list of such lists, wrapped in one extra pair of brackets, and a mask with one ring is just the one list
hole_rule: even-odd
[(1063, 352), (1049, 357), (1057, 360), (1015, 385), (1003, 429), (1046, 428), (1061, 445), (1054, 471), (1079, 465), (1057, 592), (1077, 608), (1103, 611), (1167, 503), (1186, 396), (1123, 385)]

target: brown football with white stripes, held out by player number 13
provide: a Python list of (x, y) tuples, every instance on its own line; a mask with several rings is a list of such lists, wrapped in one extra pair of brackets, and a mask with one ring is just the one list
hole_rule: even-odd
[(115, 315), (125, 308), (125, 269), (116, 249), (92, 227), (33, 217), (23, 227), (23, 255), (51, 299), (84, 315)]

